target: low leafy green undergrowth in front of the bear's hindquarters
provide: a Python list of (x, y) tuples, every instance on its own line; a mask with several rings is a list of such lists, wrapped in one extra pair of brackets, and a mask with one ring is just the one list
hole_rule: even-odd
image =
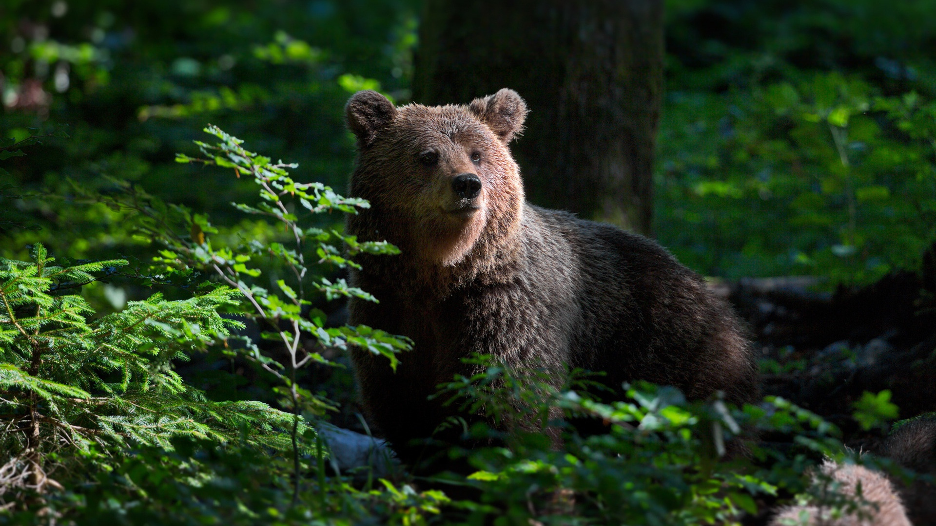
[[(488, 417), (466, 430), (475, 444), (504, 445), (462, 452), (478, 469), (468, 483), (484, 504), (470, 507), (468, 523), (734, 524), (780, 492), (856, 511), (854, 500), (803, 480), (814, 459), (856, 460), (846, 459), (834, 426), (790, 402), (768, 397), (739, 410), (718, 398), (688, 403), (677, 389), (650, 384), (597, 402), (589, 394), (596, 384), (580, 373), (555, 386), (544, 370), (471, 362), (483, 371), (457, 378), (443, 394)], [(601, 431), (579, 434), (569, 418)], [(504, 425), (509, 433), (497, 431)], [(544, 431), (561, 436), (562, 446)], [(746, 432), (790, 435), (797, 447), (755, 446)], [(739, 448), (750, 448), (751, 458)]]

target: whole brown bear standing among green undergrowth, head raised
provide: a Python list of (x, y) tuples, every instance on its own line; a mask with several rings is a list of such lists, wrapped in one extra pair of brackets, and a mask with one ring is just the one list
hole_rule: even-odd
[(349, 192), (371, 202), (346, 233), (402, 251), (358, 256), (353, 285), (380, 302), (351, 300), (350, 321), (415, 343), (396, 373), (352, 354), (365, 410), (391, 444), (431, 434), (450, 410), (428, 397), (475, 373), (462, 362), (473, 353), (753, 401), (748, 339), (699, 275), (654, 241), (525, 202), (507, 147), (527, 114), (517, 93), (396, 108), (362, 91), (345, 111), (358, 139)]

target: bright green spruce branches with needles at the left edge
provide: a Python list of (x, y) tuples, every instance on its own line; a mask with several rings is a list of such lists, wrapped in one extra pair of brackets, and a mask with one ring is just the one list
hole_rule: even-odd
[(261, 402), (210, 402), (170, 368), (241, 327), (218, 314), (236, 303), (234, 290), (155, 294), (89, 321), (94, 310), (74, 292), (126, 262), (59, 266), (41, 244), (33, 253), (0, 259), (0, 444), (4, 469), (20, 481), (12, 489), (58, 485), (46, 474), (79, 469), (80, 459), (108, 463), (123, 446), (171, 449), (179, 436), (225, 443), (249, 428), (249, 443), (288, 444), (289, 416)]

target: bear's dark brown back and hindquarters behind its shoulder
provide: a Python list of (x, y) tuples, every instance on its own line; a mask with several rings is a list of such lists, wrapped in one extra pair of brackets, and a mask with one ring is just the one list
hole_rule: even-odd
[(532, 205), (525, 212), (526, 221), (561, 237), (571, 253), (571, 263), (553, 263), (574, 266), (579, 314), (570, 365), (606, 372), (609, 387), (641, 379), (680, 387), (690, 398), (722, 389), (733, 402), (753, 400), (756, 373), (746, 334), (698, 274), (655, 241), (616, 226)]

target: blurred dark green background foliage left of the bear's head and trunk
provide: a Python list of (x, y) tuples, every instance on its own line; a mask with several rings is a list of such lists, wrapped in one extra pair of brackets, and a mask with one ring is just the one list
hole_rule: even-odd
[[(232, 224), (241, 216), (227, 205), (249, 202), (251, 182), (222, 170), (202, 170), (193, 181), (191, 170), (168, 162), (188, 152), (205, 122), (300, 163), (305, 181), (341, 187), (354, 155), (344, 128), (347, 89), (363, 82), (408, 98), (414, 0), (67, 0), (55, 13), (52, 4), (11, 0), (0, 15), (0, 138), (25, 139), (31, 127), (49, 133), (56, 123), (68, 123), (74, 138), (47, 138), (41, 156), (0, 161), (8, 171), (0, 187), (11, 184), (9, 193), (23, 197), (11, 206), (4, 198), (4, 212), (41, 226), (7, 232), (4, 256), (25, 258), (24, 246), (42, 242), (58, 256), (149, 259), (148, 241), (129, 235), (122, 211), (74, 199), (75, 186), (117, 191), (114, 179)], [(314, 226), (340, 221), (324, 216)], [(56, 235), (64, 229), (73, 235)], [(99, 292), (89, 300), (107, 308)]]

